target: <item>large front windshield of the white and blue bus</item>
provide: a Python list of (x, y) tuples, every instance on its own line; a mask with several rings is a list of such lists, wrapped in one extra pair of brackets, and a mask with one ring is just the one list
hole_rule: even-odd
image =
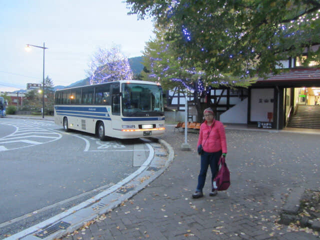
[(161, 86), (123, 83), (121, 92), (123, 116), (163, 116)]

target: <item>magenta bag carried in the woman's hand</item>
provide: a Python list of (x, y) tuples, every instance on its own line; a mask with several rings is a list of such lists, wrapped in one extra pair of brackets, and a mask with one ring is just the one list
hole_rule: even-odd
[[(221, 164), (221, 166), (220, 166), (220, 164)], [(216, 173), (216, 175), (213, 179), (212, 188), (213, 188), (213, 186), (216, 186), (216, 189), (218, 191), (223, 191), (223, 190), (228, 189), (228, 187), (231, 184), (230, 183), (230, 171), (229, 171), (228, 167), (226, 166), (225, 157), (220, 157), (220, 159), (218, 161), (218, 167), (220, 169)]]

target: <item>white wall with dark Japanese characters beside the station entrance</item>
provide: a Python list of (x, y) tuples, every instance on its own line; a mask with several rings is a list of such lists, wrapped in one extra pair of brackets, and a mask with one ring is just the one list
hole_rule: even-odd
[[(267, 113), (273, 113), (273, 97), (273, 88), (251, 89), (250, 121), (269, 121)], [(273, 118), (271, 119), (272, 121)]]

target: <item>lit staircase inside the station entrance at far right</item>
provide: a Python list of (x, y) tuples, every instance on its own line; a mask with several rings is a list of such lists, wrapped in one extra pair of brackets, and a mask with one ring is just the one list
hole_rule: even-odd
[(320, 128), (320, 105), (297, 105), (287, 127)]

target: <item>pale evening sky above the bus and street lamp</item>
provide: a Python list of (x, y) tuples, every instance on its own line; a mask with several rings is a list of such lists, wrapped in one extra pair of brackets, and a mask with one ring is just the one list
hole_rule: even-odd
[(152, 39), (151, 19), (127, 15), (122, 0), (0, 0), (0, 91), (26, 89), (26, 83), (69, 85), (88, 76), (98, 47), (118, 45), (141, 56)]

